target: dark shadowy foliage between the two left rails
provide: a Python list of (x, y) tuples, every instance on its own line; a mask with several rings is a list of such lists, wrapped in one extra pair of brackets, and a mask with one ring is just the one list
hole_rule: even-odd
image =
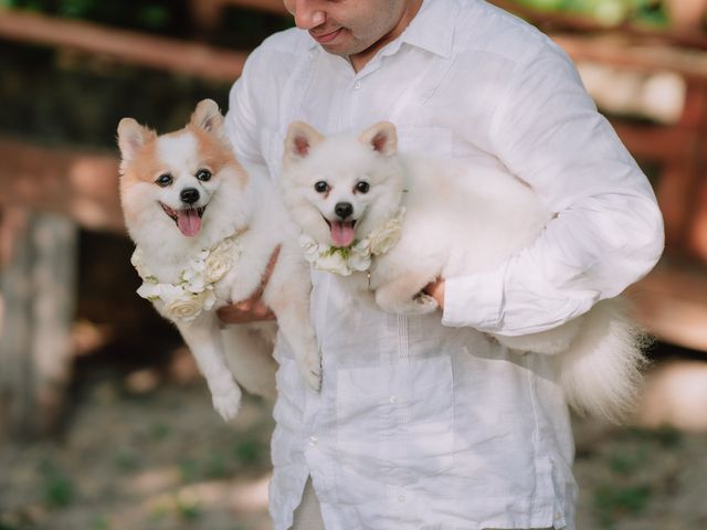
[(182, 127), (205, 97), (226, 108), (229, 83), (43, 47), (2, 46), (0, 132), (11, 136), (115, 149), (116, 127), (124, 116), (166, 131)]

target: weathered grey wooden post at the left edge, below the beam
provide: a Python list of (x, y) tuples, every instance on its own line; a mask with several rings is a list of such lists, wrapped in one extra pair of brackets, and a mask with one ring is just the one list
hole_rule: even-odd
[(0, 432), (34, 436), (61, 420), (71, 374), (77, 230), (54, 213), (2, 212)]

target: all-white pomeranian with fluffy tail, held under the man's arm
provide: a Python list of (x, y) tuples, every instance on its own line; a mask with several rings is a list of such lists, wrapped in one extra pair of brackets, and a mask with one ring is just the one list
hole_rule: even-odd
[[(292, 124), (282, 187), (306, 258), (389, 312), (435, 310), (436, 301), (421, 293), (426, 284), (494, 269), (551, 219), (513, 176), (399, 155), (395, 128), (384, 121), (327, 138)], [(548, 331), (496, 339), (556, 356), (566, 399), (578, 411), (619, 421), (632, 409), (643, 335), (623, 300), (600, 301)]]

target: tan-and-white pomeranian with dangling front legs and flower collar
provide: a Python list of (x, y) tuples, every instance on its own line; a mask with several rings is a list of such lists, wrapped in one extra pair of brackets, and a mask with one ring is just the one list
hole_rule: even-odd
[(251, 392), (274, 392), (275, 361), (263, 337), (272, 340), (275, 325), (222, 327), (215, 310), (258, 289), (277, 246), (262, 298), (306, 382), (318, 389), (312, 286), (296, 230), (270, 179), (247, 174), (235, 160), (217, 104), (200, 102), (183, 129), (161, 136), (124, 118), (118, 146), (120, 199), (136, 244), (133, 264), (144, 280), (138, 294), (175, 322), (221, 416), (230, 420), (239, 410), (233, 375)]

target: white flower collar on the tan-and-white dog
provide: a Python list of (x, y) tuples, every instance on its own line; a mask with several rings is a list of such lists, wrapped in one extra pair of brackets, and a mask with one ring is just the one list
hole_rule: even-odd
[(236, 241), (243, 231), (221, 240), (211, 248), (201, 250), (189, 262), (188, 268), (179, 273), (176, 284), (162, 283), (150, 273), (143, 261), (143, 251), (135, 248), (130, 263), (143, 278), (137, 294), (150, 301), (161, 300), (162, 312), (172, 321), (192, 321), (201, 311), (213, 308), (217, 297), (213, 286), (231, 269), (241, 256), (242, 247)]

